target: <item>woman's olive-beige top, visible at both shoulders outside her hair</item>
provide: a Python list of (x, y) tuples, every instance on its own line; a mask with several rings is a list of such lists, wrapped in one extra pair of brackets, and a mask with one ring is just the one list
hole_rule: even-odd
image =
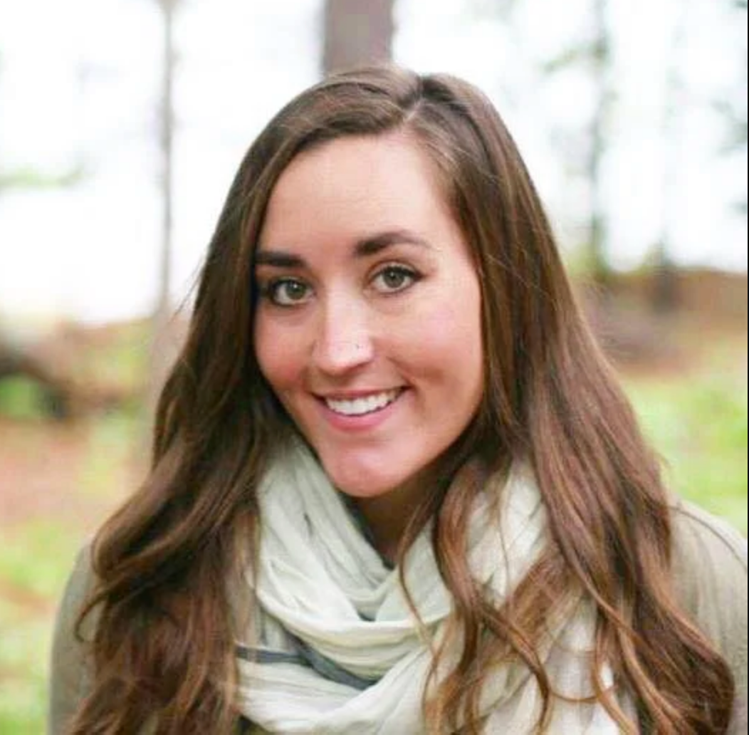
[[(727, 659), (736, 680), (730, 735), (747, 732), (747, 542), (687, 503), (673, 509), (673, 572), (682, 606)], [(73, 625), (91, 588), (86, 549), (79, 554), (58, 612), (52, 647), (49, 735), (65, 725), (88, 692), (90, 679)]]

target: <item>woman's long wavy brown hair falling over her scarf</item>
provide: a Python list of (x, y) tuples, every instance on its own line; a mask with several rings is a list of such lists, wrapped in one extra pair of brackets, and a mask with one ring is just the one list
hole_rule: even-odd
[[(94, 545), (94, 682), (78, 734), (226, 733), (234, 707), (234, 611), (252, 563), (255, 488), (289, 420), (255, 360), (253, 252), (281, 172), (341, 136), (402, 129), (440, 172), (473, 249), (482, 288), (485, 399), (452, 455), (501, 472), (522, 459), (548, 509), (548, 550), (497, 609), (467, 563), (467, 509), (478, 485), (430, 498), (440, 571), (455, 599), (454, 670), (425, 698), (429, 731), (479, 732), (491, 666), (520, 659), (554, 693), (537, 648), (543, 611), (583, 590), (598, 611), (592, 676), (625, 731), (724, 731), (726, 663), (679, 611), (658, 462), (587, 330), (547, 218), (508, 130), (479, 91), (451, 76), (376, 67), (332, 76), (292, 100), (249, 149), (210, 243), (189, 336), (157, 411), (151, 474)], [(405, 550), (422, 517), (407, 528)], [(246, 602), (250, 605), (250, 602)], [(598, 680), (601, 662), (639, 714), (631, 722)]]

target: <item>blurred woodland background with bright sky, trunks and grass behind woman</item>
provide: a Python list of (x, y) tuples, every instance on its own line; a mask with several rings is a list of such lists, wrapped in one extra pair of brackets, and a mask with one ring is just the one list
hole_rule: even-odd
[(386, 58), (494, 100), (670, 485), (746, 534), (745, 0), (0, 0), (1, 733), (43, 732), (240, 157)]

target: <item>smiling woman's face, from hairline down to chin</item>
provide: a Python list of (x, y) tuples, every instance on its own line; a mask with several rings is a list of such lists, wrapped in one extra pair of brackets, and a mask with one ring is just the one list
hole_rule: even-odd
[(404, 486), (482, 399), (479, 281), (433, 164), (403, 133), (303, 152), (256, 258), (258, 362), (330, 480)]

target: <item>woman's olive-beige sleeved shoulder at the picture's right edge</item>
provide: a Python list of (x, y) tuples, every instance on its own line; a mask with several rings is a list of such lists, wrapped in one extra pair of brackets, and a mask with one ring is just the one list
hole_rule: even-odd
[(672, 528), (676, 594), (730, 666), (736, 682), (730, 732), (746, 732), (747, 541), (725, 521), (684, 501), (672, 506)]

